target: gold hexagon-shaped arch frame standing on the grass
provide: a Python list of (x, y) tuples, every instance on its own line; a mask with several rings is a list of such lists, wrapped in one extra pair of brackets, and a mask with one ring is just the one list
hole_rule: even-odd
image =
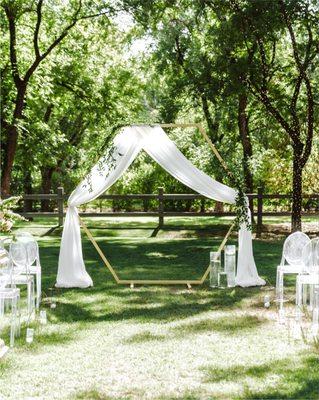
[[(160, 127), (162, 128), (197, 128), (199, 130), (199, 132), (202, 134), (202, 136), (204, 137), (204, 139), (206, 140), (206, 142), (208, 143), (208, 145), (210, 146), (211, 150), (213, 151), (213, 153), (215, 154), (215, 156), (217, 157), (217, 159), (219, 160), (219, 162), (221, 163), (221, 165), (223, 166), (223, 168), (226, 170), (226, 172), (232, 176), (231, 171), (228, 169), (225, 161), (223, 160), (222, 156), (219, 154), (218, 150), (216, 149), (216, 147), (214, 146), (213, 142), (210, 140), (209, 136), (207, 135), (205, 129), (202, 127), (201, 124), (159, 124)], [(123, 284), (123, 285), (130, 285), (131, 287), (134, 287), (134, 285), (186, 285), (188, 288), (191, 288), (191, 285), (202, 285), (208, 274), (209, 274), (209, 265), (207, 267), (207, 269), (205, 270), (203, 276), (200, 279), (197, 280), (192, 280), (192, 279), (180, 279), (180, 280), (175, 280), (175, 279), (120, 279), (116, 273), (116, 271), (114, 270), (114, 268), (112, 267), (111, 263), (108, 261), (108, 259), (105, 257), (103, 251), (101, 250), (100, 246), (97, 244), (96, 240), (94, 239), (92, 233), (90, 232), (90, 230), (88, 229), (88, 227), (85, 225), (85, 223), (83, 222), (83, 220), (80, 218), (79, 216), (79, 220), (80, 220), (80, 224), (84, 230), (84, 232), (87, 234), (88, 238), (90, 239), (90, 241), (92, 242), (93, 246), (95, 247), (96, 251), (98, 252), (98, 254), (100, 255), (100, 257), (102, 258), (106, 268), (111, 272), (115, 282), (119, 285)], [(221, 242), (218, 251), (221, 252), (223, 250), (223, 248), (226, 245), (226, 242), (233, 230), (235, 226), (235, 222), (233, 222), (230, 226), (230, 228), (228, 229), (226, 236), (224, 237), (223, 241)]]

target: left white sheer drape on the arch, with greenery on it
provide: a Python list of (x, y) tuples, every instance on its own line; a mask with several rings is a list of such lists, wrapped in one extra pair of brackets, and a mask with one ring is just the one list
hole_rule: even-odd
[(114, 139), (112, 157), (117, 161), (115, 168), (109, 171), (108, 160), (102, 157), (92, 168), (89, 179), (86, 177), (72, 192), (68, 200), (62, 233), (57, 287), (85, 288), (93, 285), (83, 261), (81, 232), (76, 207), (94, 200), (112, 186), (131, 165), (140, 150), (140, 135), (131, 131), (130, 128), (124, 129)]

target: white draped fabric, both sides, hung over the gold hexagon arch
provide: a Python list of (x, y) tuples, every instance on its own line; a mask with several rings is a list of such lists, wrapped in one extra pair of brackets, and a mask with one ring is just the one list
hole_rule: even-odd
[[(178, 150), (160, 126), (136, 125), (123, 128), (115, 137), (110, 151), (101, 157), (68, 200), (60, 248), (57, 287), (84, 288), (93, 285), (83, 261), (76, 207), (97, 198), (111, 187), (131, 165), (141, 149), (144, 149), (172, 176), (194, 191), (213, 200), (235, 203), (236, 191), (196, 168)], [(253, 256), (252, 235), (245, 224), (239, 231), (236, 284), (244, 287), (265, 284), (265, 281), (258, 276)]]

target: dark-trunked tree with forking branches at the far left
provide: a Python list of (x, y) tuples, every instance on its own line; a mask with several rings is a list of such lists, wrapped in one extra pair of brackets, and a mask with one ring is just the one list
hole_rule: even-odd
[[(51, 4), (54, 10), (46, 10), (50, 14), (50, 18), (56, 19), (57, 25), (60, 25), (61, 19), (66, 21), (64, 26), (61, 27), (60, 32), (52, 32), (52, 21), (45, 21), (45, 40), (40, 40), (41, 29), (43, 29), (44, 11), (43, 0), (38, 0), (36, 3), (24, 1), (3, 1), (1, 4), (4, 11), (7, 29), (9, 34), (9, 65), (11, 70), (12, 79), (14, 82), (15, 96), (13, 100), (13, 107), (11, 112), (3, 115), (2, 127), (5, 131), (4, 146), (4, 159), (2, 164), (2, 181), (1, 187), (3, 194), (10, 192), (10, 183), (12, 176), (12, 167), (17, 151), (18, 137), (23, 127), (24, 113), (27, 103), (27, 90), (30, 81), (39, 69), (40, 65), (49, 57), (54, 49), (59, 47), (64, 39), (68, 36), (69, 32), (81, 20), (94, 18), (100, 15), (109, 13), (109, 9), (104, 5), (103, 10), (96, 10), (91, 2), (87, 2), (85, 8), (82, 6), (82, 1), (79, 0), (77, 4), (70, 3), (69, 8), (65, 10), (63, 4)], [(75, 4), (75, 5), (74, 5)], [(57, 19), (57, 15), (59, 19)], [(61, 16), (63, 15), (63, 18)], [(33, 22), (32, 28), (32, 42), (33, 42), (33, 59), (26, 60), (21, 52), (19, 52), (19, 39), (18, 28), (19, 22), (27, 18), (29, 23)], [(58, 23), (59, 21), (59, 23)]]

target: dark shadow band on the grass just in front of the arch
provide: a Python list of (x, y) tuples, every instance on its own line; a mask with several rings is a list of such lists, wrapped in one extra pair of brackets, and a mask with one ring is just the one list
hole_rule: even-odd
[[(259, 289), (229, 291), (199, 291), (191, 294), (175, 294), (169, 290), (145, 289), (140, 292), (109, 290), (105, 293), (105, 302), (100, 300), (100, 306), (65, 302), (61, 297), (54, 311), (55, 317), (63, 322), (103, 322), (137, 320), (139, 322), (173, 321), (188, 318), (211, 310), (227, 310), (239, 307), (240, 302), (256, 293)], [(88, 295), (90, 290), (86, 291)], [(99, 291), (98, 291), (99, 292)], [(94, 291), (91, 292), (92, 295)], [(113, 308), (108, 304), (108, 296), (118, 296), (118, 304)], [(124, 301), (122, 299), (124, 297)], [(134, 303), (131, 300), (134, 300)], [(140, 305), (138, 302), (140, 301)], [(156, 307), (154, 307), (156, 304)], [(132, 306), (133, 305), (133, 306)], [(107, 309), (107, 312), (105, 312)]]

